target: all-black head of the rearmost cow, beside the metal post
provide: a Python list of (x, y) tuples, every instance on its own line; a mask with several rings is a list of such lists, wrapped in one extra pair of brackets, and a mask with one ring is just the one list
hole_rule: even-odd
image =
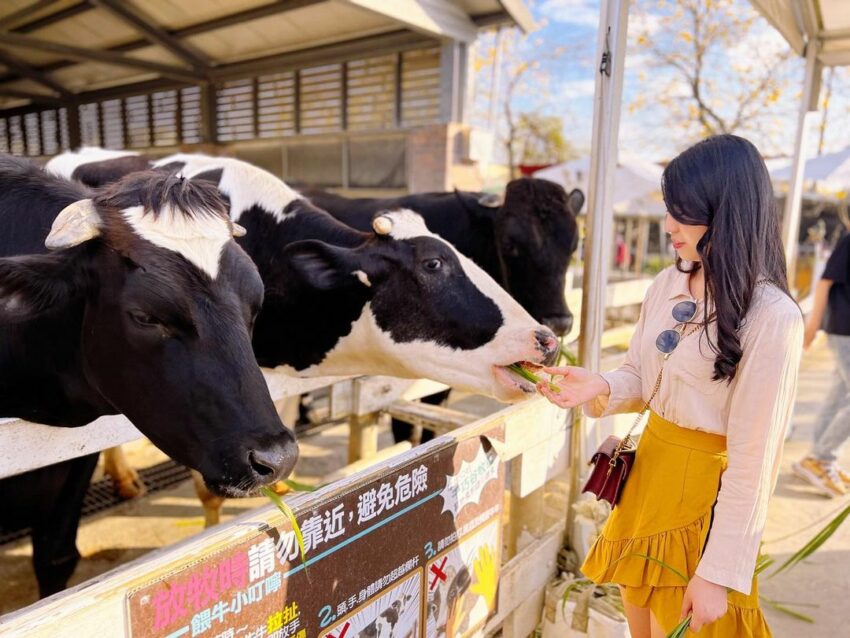
[(578, 246), (576, 216), (584, 194), (569, 195), (543, 179), (508, 184), (496, 216), (496, 242), (508, 292), (555, 333), (570, 331), (573, 315), (564, 299), (570, 258)]

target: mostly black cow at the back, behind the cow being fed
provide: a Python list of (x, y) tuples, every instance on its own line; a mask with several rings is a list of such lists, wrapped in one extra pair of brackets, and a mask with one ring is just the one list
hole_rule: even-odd
[(381, 211), (407, 208), (419, 213), (430, 231), (481, 266), (532, 317), (558, 335), (570, 331), (573, 315), (564, 285), (578, 245), (576, 217), (584, 205), (580, 190), (568, 195), (554, 182), (524, 177), (507, 185), (504, 202), (466, 191), (387, 199), (349, 199), (317, 189), (299, 192), (360, 230), (369, 228)]

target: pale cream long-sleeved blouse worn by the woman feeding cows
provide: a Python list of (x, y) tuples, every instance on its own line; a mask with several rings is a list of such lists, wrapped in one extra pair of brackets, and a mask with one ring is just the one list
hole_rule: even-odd
[[(602, 375), (610, 396), (585, 404), (587, 416), (640, 411), (661, 368), (655, 339), (677, 325), (673, 306), (687, 299), (692, 297), (686, 273), (675, 266), (659, 273), (647, 291), (625, 363)], [(700, 303), (696, 321), (702, 312)], [(768, 499), (794, 408), (803, 325), (800, 309), (785, 293), (773, 284), (757, 286), (741, 327), (743, 356), (735, 379), (712, 380), (715, 354), (698, 331), (683, 338), (664, 364), (650, 406), (681, 427), (726, 436), (728, 467), (696, 573), (745, 594), (750, 593)], [(716, 344), (716, 325), (710, 324), (708, 332)]]

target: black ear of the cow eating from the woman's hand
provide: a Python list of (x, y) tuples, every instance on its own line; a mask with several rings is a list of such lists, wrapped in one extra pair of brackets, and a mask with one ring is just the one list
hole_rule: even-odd
[(322, 241), (297, 241), (286, 247), (283, 257), (311, 288), (332, 290), (356, 279), (363, 281), (362, 276), (355, 274), (363, 272), (360, 256), (351, 248), (331, 246)]

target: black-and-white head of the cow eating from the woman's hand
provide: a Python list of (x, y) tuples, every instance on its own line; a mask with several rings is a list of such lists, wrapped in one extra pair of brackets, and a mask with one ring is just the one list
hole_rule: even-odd
[[(284, 277), (335, 301), (329, 316), (317, 322), (348, 322), (320, 357), (307, 362), (313, 365), (299, 372), (427, 377), (505, 401), (533, 392), (505, 366), (553, 361), (558, 342), (552, 331), (429, 232), (419, 215), (387, 212), (375, 219), (374, 229), (354, 247), (308, 240), (284, 250)], [(273, 296), (274, 284), (266, 284)], [(320, 307), (321, 301), (301, 298), (300, 312)], [(347, 306), (356, 309), (350, 318), (342, 312)], [(274, 323), (267, 327), (275, 329)], [(320, 323), (314, 327), (322, 331)]]

